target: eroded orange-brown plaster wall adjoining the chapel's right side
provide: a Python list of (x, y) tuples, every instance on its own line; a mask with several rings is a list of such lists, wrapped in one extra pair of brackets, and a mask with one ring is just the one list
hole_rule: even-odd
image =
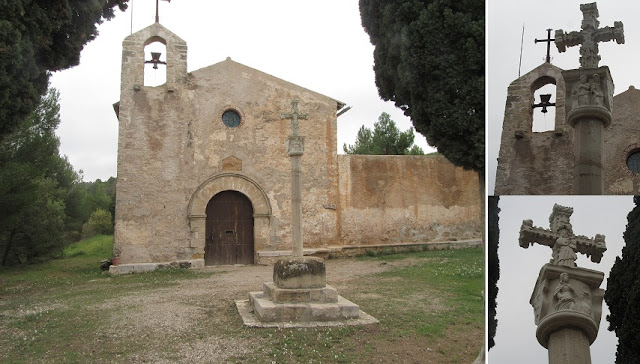
[(443, 156), (339, 155), (341, 244), (480, 239), (478, 175)]

